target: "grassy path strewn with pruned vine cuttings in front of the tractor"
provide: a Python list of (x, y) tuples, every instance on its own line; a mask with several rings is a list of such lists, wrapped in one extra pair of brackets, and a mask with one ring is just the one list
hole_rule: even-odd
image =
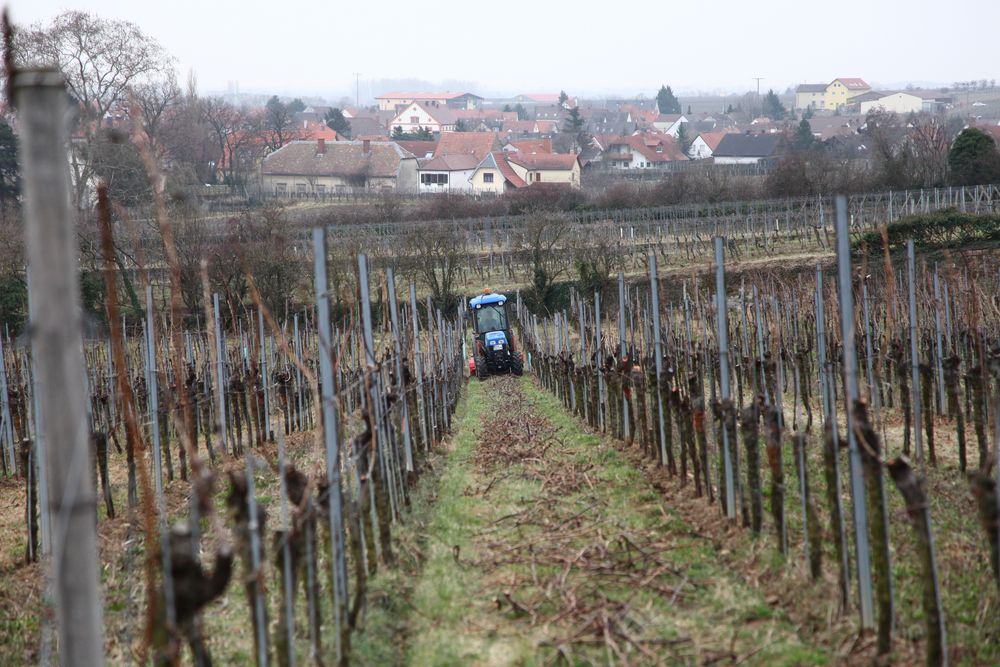
[(472, 382), (441, 463), (400, 662), (830, 661), (531, 380)]

